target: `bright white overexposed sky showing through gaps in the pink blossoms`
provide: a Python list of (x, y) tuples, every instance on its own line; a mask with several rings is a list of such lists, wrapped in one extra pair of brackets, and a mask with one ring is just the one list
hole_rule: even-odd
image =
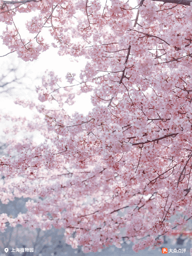
[[(105, 4), (106, 0), (102, 0), (101, 1), (103, 3), (103, 5)], [(137, 1), (136, 0), (130, 0), (129, 3), (132, 6), (136, 6), (137, 5)], [(14, 18), (14, 22), (16, 24), (16, 26), (19, 28), (19, 32), (21, 34), (22, 38), (26, 38), (26, 35), (29, 35), (29, 33), (27, 32), (26, 28), (25, 28), (25, 20), (29, 20), (30, 17), (35, 16), (35, 12), (33, 13), (19, 13), (17, 17)], [(5, 30), (6, 25), (4, 23), (0, 23), (0, 34), (2, 34), (2, 31)], [(31, 35), (30, 35), (31, 37)], [(8, 53), (9, 50), (8, 48), (2, 44), (2, 40), (0, 40), (0, 56), (1, 55), (5, 55), (6, 53)], [(1, 65), (1, 71), (3, 71), (3, 67), (6, 65), (11, 65), (11, 63), (13, 62), (13, 60), (15, 59), (16, 62), (18, 62), (18, 57), (17, 54), (15, 53), (11, 53), (9, 55), (7, 55), (6, 57), (2, 57), (0, 58), (0, 65)], [(58, 75), (59, 77), (62, 78), (62, 86), (65, 86), (65, 75), (67, 72), (71, 72), (71, 73), (77, 73), (79, 72), (79, 70), (84, 66), (84, 64), (87, 62), (87, 60), (81, 58), (81, 61), (79, 62), (71, 62), (70, 61), (70, 57), (68, 56), (59, 56), (57, 54), (57, 49), (56, 48), (52, 48), (50, 47), (49, 50), (47, 50), (46, 52), (41, 53), (40, 57), (38, 58), (38, 60), (35, 60), (33, 62), (24, 62), (22, 60), (19, 60), (18, 65), (20, 66), (20, 70), (21, 72), (25, 69), (27, 69), (27, 73), (29, 76), (31, 76), (32, 78), (36, 77), (36, 76), (43, 76), (44, 72), (46, 69), (48, 70), (53, 70), (55, 71), (55, 74)], [(27, 67), (26, 67), (27, 66)], [(38, 80), (37, 84), (30, 84), (31, 81), (26, 81), (26, 83), (29, 83), (28, 86), (34, 88), (35, 90), (35, 85), (41, 85), (41, 81)], [(31, 93), (31, 91), (23, 91), (18, 90), (17, 92), (17, 96), (20, 96), (21, 98), (31, 98), (31, 96), (33, 95)], [(35, 94), (37, 97), (37, 94)], [(2, 97), (3, 96), (3, 97)], [(13, 97), (14, 98), (14, 97)], [(80, 96), (78, 96), (76, 98), (76, 103), (73, 106), (70, 106), (68, 108), (68, 112), (69, 114), (77, 111), (80, 113), (83, 113), (84, 115), (86, 115), (92, 108), (92, 105), (90, 103), (90, 94), (87, 95), (85, 93), (81, 94)], [(0, 94), (0, 109), (3, 110), (4, 112), (6, 111), (11, 111), (13, 115), (17, 115), (18, 113), (20, 115), (30, 115), (28, 110), (23, 110), (23, 108), (21, 106), (15, 105), (13, 103), (12, 98), (10, 97), (5, 97), (4, 95)]]

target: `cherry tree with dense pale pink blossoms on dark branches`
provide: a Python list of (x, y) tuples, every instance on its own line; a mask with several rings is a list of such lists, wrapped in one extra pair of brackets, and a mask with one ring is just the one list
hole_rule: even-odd
[[(7, 132), (39, 131), (45, 140), (17, 141), (10, 135), (0, 160), (2, 203), (31, 198), (28, 211), (0, 215), (0, 229), (65, 228), (66, 242), (84, 252), (121, 239), (137, 252), (181, 232), (192, 217), (192, 7), (189, 0), (21, 0), (1, 2), (7, 24), (3, 43), (25, 61), (49, 47), (74, 61), (84, 57), (79, 78), (68, 70), (64, 84), (46, 71), (36, 86), (33, 120), (15, 122)], [(134, 17), (134, 10), (137, 10)], [(15, 15), (34, 12), (23, 37)], [(41, 35), (49, 31), (49, 44)], [(74, 90), (78, 88), (78, 90)], [(91, 92), (93, 109), (68, 115), (75, 95)], [(52, 104), (53, 103), (53, 104)], [(57, 103), (57, 107), (55, 106)], [(50, 105), (53, 105), (50, 107)], [(12, 157), (17, 150), (18, 156)], [(38, 199), (36, 199), (38, 198)], [(124, 211), (120, 216), (119, 211)], [(180, 217), (172, 223), (176, 213)], [(125, 234), (120, 234), (125, 228)]]

